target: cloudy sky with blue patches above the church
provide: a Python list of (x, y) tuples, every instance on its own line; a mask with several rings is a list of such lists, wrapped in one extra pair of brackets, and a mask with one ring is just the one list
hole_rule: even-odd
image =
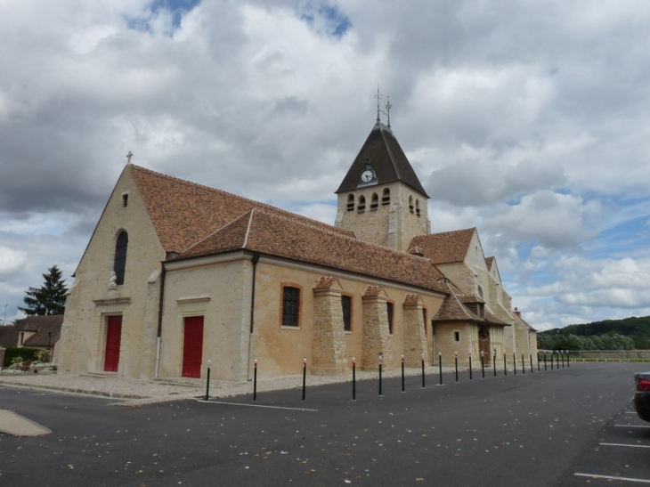
[[(0, 0), (0, 319), (133, 163), (333, 223), (375, 123), (539, 329), (650, 315), (646, 0)], [(68, 277), (71, 285), (72, 278)]]

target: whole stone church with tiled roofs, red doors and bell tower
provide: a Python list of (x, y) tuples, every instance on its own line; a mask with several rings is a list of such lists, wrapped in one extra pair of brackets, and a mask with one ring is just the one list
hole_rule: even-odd
[[(378, 119), (328, 225), (129, 163), (69, 290), (59, 373), (240, 381), (537, 353), (475, 228), (431, 234)], [(476, 362), (475, 362), (476, 363)]]

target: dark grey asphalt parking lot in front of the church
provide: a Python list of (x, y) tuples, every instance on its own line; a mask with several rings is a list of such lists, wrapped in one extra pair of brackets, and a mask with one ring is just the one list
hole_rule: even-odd
[[(647, 367), (646, 367), (647, 368)], [(3, 409), (53, 431), (0, 434), (0, 483), (29, 485), (628, 485), (650, 483), (650, 426), (633, 364), (444, 386), (427, 377), (140, 408), (0, 389)], [(114, 402), (114, 401), (112, 401)], [(622, 446), (634, 445), (634, 446)], [(612, 478), (610, 478), (612, 477)]]

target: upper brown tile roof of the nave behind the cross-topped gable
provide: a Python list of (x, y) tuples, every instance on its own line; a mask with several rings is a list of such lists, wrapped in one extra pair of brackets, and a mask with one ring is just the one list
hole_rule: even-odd
[(316, 227), (353, 237), (352, 231), (331, 227), (226, 191), (162, 175), (140, 166), (129, 165), (128, 169), (134, 176), (151, 222), (167, 253), (180, 254), (254, 207), (277, 215), (290, 215)]

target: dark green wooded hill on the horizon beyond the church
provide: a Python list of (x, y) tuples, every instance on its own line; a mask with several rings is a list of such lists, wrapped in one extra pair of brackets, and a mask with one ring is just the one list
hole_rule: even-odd
[(650, 349), (650, 316), (594, 321), (537, 334), (542, 350)]

